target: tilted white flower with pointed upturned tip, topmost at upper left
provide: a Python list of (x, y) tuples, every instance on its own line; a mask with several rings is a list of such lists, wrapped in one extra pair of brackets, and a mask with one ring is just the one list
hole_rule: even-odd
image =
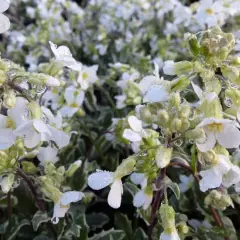
[(56, 44), (49, 41), (51, 50), (55, 55), (56, 61), (63, 64), (66, 67), (69, 67), (75, 71), (81, 71), (82, 64), (77, 62), (68, 47), (66, 46), (59, 46), (57, 47)]

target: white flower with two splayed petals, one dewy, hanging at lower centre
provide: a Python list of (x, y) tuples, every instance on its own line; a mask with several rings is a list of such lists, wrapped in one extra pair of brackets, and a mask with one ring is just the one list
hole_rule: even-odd
[(119, 208), (123, 194), (122, 180), (114, 178), (113, 172), (99, 170), (88, 177), (88, 185), (94, 190), (100, 190), (110, 184), (112, 185), (108, 194), (108, 204), (112, 208)]

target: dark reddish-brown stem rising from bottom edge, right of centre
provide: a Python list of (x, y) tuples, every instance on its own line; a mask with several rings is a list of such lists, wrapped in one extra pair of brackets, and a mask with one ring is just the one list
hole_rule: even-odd
[[(156, 182), (160, 183), (165, 178), (165, 176), (166, 176), (166, 168), (163, 168), (161, 169)], [(148, 227), (148, 240), (152, 240), (152, 232), (155, 226), (155, 217), (156, 217), (156, 213), (159, 208), (159, 205), (162, 201), (163, 195), (164, 195), (164, 189), (160, 189), (155, 195), (155, 199), (152, 205), (150, 225)]]

